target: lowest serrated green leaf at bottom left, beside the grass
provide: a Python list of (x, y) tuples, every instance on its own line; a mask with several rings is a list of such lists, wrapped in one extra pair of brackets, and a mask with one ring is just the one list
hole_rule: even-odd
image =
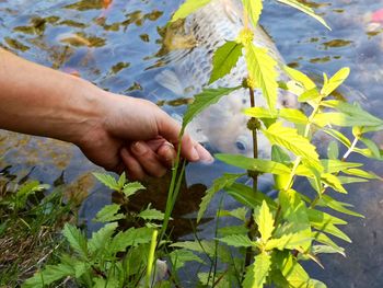
[(27, 279), (23, 288), (44, 288), (54, 281), (74, 276), (74, 267), (67, 264), (46, 265), (44, 270), (36, 273), (32, 278)]

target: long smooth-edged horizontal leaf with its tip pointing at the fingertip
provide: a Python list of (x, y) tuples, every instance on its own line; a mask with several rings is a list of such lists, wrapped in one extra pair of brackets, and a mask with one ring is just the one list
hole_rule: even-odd
[(271, 174), (290, 174), (291, 170), (270, 160), (247, 158), (240, 154), (214, 154), (214, 158), (233, 166)]

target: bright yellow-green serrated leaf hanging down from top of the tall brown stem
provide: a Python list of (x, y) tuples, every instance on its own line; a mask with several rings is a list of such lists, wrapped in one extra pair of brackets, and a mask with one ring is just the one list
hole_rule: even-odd
[(269, 110), (276, 110), (278, 91), (278, 72), (276, 60), (267, 49), (256, 47), (253, 43), (245, 45), (245, 59), (249, 78), (260, 88)]

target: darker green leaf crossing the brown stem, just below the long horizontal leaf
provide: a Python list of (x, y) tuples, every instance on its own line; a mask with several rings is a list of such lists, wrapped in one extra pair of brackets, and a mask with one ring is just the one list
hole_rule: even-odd
[(255, 209), (260, 206), (264, 200), (272, 209), (277, 209), (277, 204), (262, 192), (254, 193), (254, 191), (243, 184), (234, 183), (233, 185), (225, 187), (227, 193), (232, 196), (239, 203), (246, 205), (249, 208)]

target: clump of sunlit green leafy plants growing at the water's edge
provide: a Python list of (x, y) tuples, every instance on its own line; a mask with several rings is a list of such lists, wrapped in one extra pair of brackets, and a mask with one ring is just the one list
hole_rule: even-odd
[[(216, 0), (211, 0), (216, 1)], [(186, 0), (171, 21), (186, 18), (208, 5), (209, 0)], [(172, 242), (169, 223), (177, 200), (186, 163), (179, 159), (172, 171), (165, 211), (151, 206), (140, 212), (124, 211), (121, 204), (105, 206), (95, 220), (105, 223), (88, 239), (78, 228), (67, 224), (63, 235), (71, 252), (62, 252), (60, 262), (47, 265), (28, 279), (24, 287), (44, 287), (67, 277), (85, 287), (183, 287), (179, 277), (188, 262), (198, 263), (196, 287), (326, 287), (312, 279), (302, 262), (313, 261), (321, 267), (321, 254), (347, 252), (335, 242), (351, 242), (339, 229), (347, 221), (338, 215), (363, 217), (350, 204), (337, 200), (347, 194), (347, 185), (382, 177), (368, 171), (359, 162), (348, 162), (351, 153), (382, 160), (382, 149), (371, 140), (372, 133), (383, 129), (383, 120), (364, 111), (358, 103), (348, 103), (334, 96), (348, 78), (350, 69), (341, 68), (334, 76), (323, 74), (321, 83), (291, 67), (278, 67), (265, 47), (254, 42), (254, 27), (262, 15), (262, 0), (243, 0), (243, 28), (236, 41), (224, 43), (214, 51), (210, 83), (222, 79), (244, 56), (248, 77), (242, 85), (208, 88), (195, 95), (184, 118), (183, 131), (204, 110), (233, 91), (245, 89), (249, 107), (247, 128), (253, 137), (253, 158), (241, 154), (216, 154), (216, 159), (246, 171), (225, 173), (217, 178), (204, 196), (197, 220), (200, 221), (214, 195), (224, 191), (241, 207), (218, 210), (217, 222), (235, 218), (235, 226), (217, 226), (213, 239)], [(279, 0), (313, 16), (325, 26), (314, 11), (295, 0)], [(287, 81), (278, 81), (286, 72)], [(305, 114), (299, 108), (278, 107), (277, 89), (294, 94)], [(260, 91), (265, 106), (258, 106), (254, 93)], [(347, 96), (347, 95), (346, 95)], [(348, 131), (347, 131), (348, 129)], [(318, 153), (313, 145), (317, 133), (333, 138), (327, 155)], [(271, 157), (258, 158), (258, 136), (264, 135), (271, 147)], [(349, 138), (351, 135), (351, 138)], [(259, 191), (258, 177), (272, 175), (276, 197)], [(129, 183), (125, 174), (118, 180), (107, 174), (95, 175), (103, 184), (129, 201), (143, 186)], [(243, 180), (246, 181), (243, 181)], [(253, 187), (243, 183), (251, 180)], [(299, 191), (297, 181), (306, 181), (311, 191)], [(334, 216), (334, 215), (337, 216)], [(119, 230), (124, 219), (144, 220), (141, 228)], [(240, 224), (239, 224), (240, 223)], [(167, 262), (161, 275), (161, 263)], [(179, 275), (178, 275), (179, 274)], [(166, 276), (165, 278), (163, 278)]]

